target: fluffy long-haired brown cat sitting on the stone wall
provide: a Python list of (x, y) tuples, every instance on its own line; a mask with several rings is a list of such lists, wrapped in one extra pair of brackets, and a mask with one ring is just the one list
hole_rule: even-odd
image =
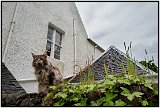
[(42, 55), (31, 54), (33, 57), (32, 66), (35, 69), (35, 75), (38, 80), (39, 93), (47, 94), (49, 85), (63, 84), (63, 76), (58, 67), (49, 62), (47, 52)]

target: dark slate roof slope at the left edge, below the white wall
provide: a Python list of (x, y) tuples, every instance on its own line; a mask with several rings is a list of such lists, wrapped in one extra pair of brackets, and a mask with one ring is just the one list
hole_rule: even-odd
[(1, 85), (2, 85), (2, 94), (10, 93), (26, 93), (26, 91), (19, 85), (18, 81), (11, 74), (5, 64), (1, 64)]

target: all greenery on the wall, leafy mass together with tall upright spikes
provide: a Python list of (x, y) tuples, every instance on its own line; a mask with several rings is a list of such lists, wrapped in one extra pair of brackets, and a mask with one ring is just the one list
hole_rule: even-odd
[[(65, 83), (63, 87), (49, 86), (50, 92), (45, 96), (44, 102), (49, 106), (158, 106), (158, 88), (152, 82), (137, 75), (136, 62), (130, 60), (131, 43), (128, 48), (124, 43), (127, 55), (127, 68), (122, 66), (122, 75), (109, 75), (104, 64), (106, 77), (102, 81), (94, 82), (90, 67), (88, 72), (81, 76), (80, 83)], [(127, 73), (128, 72), (128, 73)]]

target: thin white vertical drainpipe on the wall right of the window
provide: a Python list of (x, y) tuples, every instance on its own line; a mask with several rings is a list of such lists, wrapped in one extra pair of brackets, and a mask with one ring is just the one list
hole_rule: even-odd
[(77, 52), (76, 52), (76, 34), (75, 34), (75, 20), (73, 19), (73, 37), (74, 37), (74, 73), (76, 73), (76, 56), (77, 56)]

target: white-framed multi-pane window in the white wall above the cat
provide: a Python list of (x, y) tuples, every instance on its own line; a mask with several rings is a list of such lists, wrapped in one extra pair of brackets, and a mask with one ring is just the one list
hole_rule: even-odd
[(48, 27), (47, 34), (47, 55), (54, 57), (55, 59), (60, 60), (60, 51), (62, 43), (62, 34), (59, 33), (56, 29)]

